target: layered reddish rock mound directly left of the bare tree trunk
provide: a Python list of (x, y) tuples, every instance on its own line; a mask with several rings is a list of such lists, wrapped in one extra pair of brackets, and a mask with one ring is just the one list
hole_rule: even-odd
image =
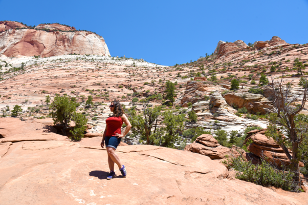
[[(290, 161), (284, 153), (283, 149), (272, 138), (268, 139), (264, 135), (265, 132), (266, 129), (252, 130), (247, 132), (244, 144), (246, 144), (248, 140), (252, 140), (253, 142), (249, 144), (247, 149), (260, 158), (264, 158), (269, 162), (275, 163), (279, 166), (282, 164), (289, 165)], [(304, 164), (300, 163), (300, 166), (304, 166)]]

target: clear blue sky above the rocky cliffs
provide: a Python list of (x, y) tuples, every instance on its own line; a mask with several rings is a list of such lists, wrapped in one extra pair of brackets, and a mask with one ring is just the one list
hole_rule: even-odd
[(0, 21), (59, 22), (104, 37), (111, 56), (174, 65), (218, 41), (308, 43), (308, 0), (0, 0)]

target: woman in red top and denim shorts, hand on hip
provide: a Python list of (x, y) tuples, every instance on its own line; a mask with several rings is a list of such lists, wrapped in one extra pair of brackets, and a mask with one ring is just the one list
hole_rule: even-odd
[[(119, 166), (119, 169), (122, 173), (123, 178), (126, 177), (126, 169), (125, 166), (122, 165), (118, 155), (114, 152), (121, 142), (122, 137), (127, 135), (130, 131), (132, 125), (130, 121), (127, 119), (124, 114), (124, 110), (120, 104), (120, 102), (113, 101), (110, 103), (110, 111), (113, 112), (113, 115), (107, 118), (106, 120), (106, 128), (103, 135), (103, 140), (101, 143), (101, 147), (104, 148), (104, 144), (106, 143), (106, 149), (108, 153), (108, 164), (110, 168), (110, 173), (107, 177), (108, 180), (112, 179), (115, 175), (114, 172), (114, 163)], [(123, 122), (126, 124), (126, 129), (123, 135), (121, 134), (121, 127)]]

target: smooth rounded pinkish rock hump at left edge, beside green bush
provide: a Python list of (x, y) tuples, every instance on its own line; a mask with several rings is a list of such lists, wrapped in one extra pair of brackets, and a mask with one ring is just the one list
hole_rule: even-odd
[(25, 122), (17, 118), (0, 118), (0, 138), (10, 137), (20, 133), (28, 132), (54, 132), (57, 130), (52, 126), (44, 125), (37, 122)]

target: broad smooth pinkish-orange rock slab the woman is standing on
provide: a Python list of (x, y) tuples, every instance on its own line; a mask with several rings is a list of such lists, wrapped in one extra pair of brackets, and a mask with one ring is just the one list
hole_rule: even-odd
[[(154, 149), (154, 153), (150, 150), (146, 153), (118, 152), (119, 158), (127, 167), (128, 175), (125, 179), (122, 178), (116, 168), (115, 178), (108, 181), (106, 151), (80, 149), (76, 146), (44, 150), (22, 149), (27, 143), (31, 142), (18, 143), (9, 155), (0, 159), (1, 205), (11, 205), (12, 202), (15, 205), (308, 203), (306, 193), (280, 194), (256, 184), (217, 177), (223, 175), (226, 168), (214, 161), (210, 162), (206, 156), (195, 153), (179, 153), (179, 150), (170, 148)], [(149, 146), (146, 146), (146, 149)], [(157, 158), (169, 155), (178, 164), (185, 159), (186, 166)]]

